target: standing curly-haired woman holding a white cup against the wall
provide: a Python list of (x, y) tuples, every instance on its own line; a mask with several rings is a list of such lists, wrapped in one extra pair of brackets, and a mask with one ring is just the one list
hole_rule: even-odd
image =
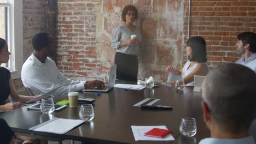
[(117, 49), (115, 64), (117, 64), (118, 80), (137, 81), (138, 55), (142, 40), (141, 30), (133, 25), (137, 18), (137, 8), (131, 4), (126, 5), (122, 11), (124, 24), (114, 30), (111, 47)]

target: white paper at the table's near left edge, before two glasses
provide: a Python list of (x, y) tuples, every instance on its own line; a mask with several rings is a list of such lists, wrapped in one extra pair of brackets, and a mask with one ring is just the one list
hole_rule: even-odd
[(41, 123), (29, 130), (42, 131), (54, 134), (65, 134), (69, 130), (77, 127), (78, 125), (84, 123), (85, 121), (81, 119), (64, 119), (64, 118), (53, 118), (49, 121)]

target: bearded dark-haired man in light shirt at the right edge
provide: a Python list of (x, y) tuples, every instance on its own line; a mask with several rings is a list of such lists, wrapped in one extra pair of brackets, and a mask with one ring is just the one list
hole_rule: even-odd
[(237, 64), (245, 65), (256, 73), (256, 33), (243, 32), (237, 35), (236, 52), (243, 55)]

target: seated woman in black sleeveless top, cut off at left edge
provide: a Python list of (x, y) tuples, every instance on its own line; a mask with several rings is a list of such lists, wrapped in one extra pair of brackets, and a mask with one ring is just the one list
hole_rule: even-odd
[[(10, 52), (8, 51), (7, 43), (4, 39), (0, 38), (0, 65), (2, 63), (7, 63), (9, 59)], [(7, 112), (14, 109), (18, 109), (22, 103), (25, 103), (28, 100), (33, 99), (34, 97), (30, 96), (24, 96), (19, 95), (13, 85), (13, 80), (11, 79), (10, 71), (4, 67), (0, 67), (0, 112)], [(6, 103), (5, 100), (8, 99), (8, 97), (13, 100), (13, 102)], [(17, 102), (15, 102), (17, 101)], [(4, 126), (4, 121), (1, 120), (3, 125), (1, 124), (1, 127)], [(7, 126), (6, 126), (7, 127)], [(3, 129), (1, 129), (3, 130)], [(10, 137), (13, 137), (13, 133), (9, 131), (5, 131), (6, 133), (10, 134)], [(4, 131), (1, 131), (1, 134), (4, 133)], [(24, 143), (34, 143), (34, 140), (30, 137), (26, 136), (19, 136), (16, 135), (18, 139), (24, 140)], [(14, 143), (13, 138), (9, 138), (8, 143)]]

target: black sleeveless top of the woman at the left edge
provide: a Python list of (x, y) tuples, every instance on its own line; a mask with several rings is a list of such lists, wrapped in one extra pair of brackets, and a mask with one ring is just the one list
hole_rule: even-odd
[(9, 86), (9, 79), (10, 79), (10, 71), (4, 67), (0, 67), (0, 105), (5, 104), (5, 100), (8, 99), (10, 94), (10, 86)]

